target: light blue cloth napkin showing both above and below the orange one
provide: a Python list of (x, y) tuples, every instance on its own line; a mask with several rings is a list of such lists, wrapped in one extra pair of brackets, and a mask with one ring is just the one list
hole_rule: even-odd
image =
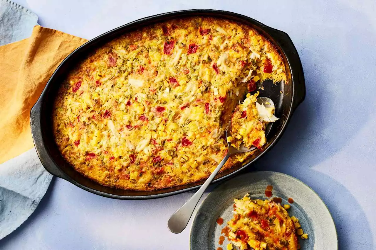
[[(38, 17), (28, 9), (0, 0), (0, 45), (29, 37), (37, 21)], [(29, 218), (51, 179), (35, 149), (0, 164), (0, 239)]]

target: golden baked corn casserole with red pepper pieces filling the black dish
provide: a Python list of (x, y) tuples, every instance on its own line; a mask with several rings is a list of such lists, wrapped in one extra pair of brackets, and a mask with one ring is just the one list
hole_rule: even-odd
[[(154, 24), (70, 71), (53, 108), (55, 141), (74, 169), (102, 185), (156, 190), (200, 181), (226, 155), (235, 106), (266, 79), (286, 81), (285, 65), (248, 26), (211, 17)], [(263, 126), (252, 143), (265, 142)], [(252, 154), (232, 156), (222, 171)]]

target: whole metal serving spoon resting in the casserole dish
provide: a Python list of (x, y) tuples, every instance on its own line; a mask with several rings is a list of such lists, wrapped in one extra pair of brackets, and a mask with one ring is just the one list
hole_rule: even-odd
[[(259, 104), (264, 104), (265, 107), (270, 107), (271, 105), (274, 106), (273, 101), (271, 101), (270, 98), (267, 97), (259, 97), (257, 98), (257, 102)], [(265, 128), (265, 136), (268, 135), (270, 132), (272, 123), (268, 123), (267, 127)], [(227, 126), (226, 129), (226, 138), (230, 136), (229, 126)], [(237, 153), (245, 153), (252, 151), (256, 147), (252, 148), (246, 148), (243, 143), (240, 145), (239, 149), (234, 148), (230, 145), (230, 143), (227, 141), (227, 145), (229, 146), (229, 151), (227, 152), (227, 155), (223, 158), (223, 160), (219, 163), (218, 167), (216, 167), (213, 171), (213, 173), (209, 176), (209, 178), (202, 184), (199, 190), (197, 190), (196, 194), (194, 194), (191, 199), (189, 199), (183, 206), (181, 206), (179, 209), (177, 209), (176, 212), (174, 212), (173, 215), (168, 219), (167, 227), (168, 229), (173, 233), (181, 233), (185, 227), (188, 224), (188, 221), (190, 220), (194, 208), (196, 208), (197, 203), (199, 202), (202, 194), (206, 190), (206, 188), (209, 186), (209, 184), (213, 181), (215, 175), (219, 172), (219, 170), (223, 167), (223, 165), (226, 163), (226, 161), (230, 158), (231, 155), (237, 154)]]

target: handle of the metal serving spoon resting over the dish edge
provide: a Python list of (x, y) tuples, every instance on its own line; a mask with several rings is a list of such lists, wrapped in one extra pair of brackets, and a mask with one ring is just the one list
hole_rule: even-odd
[(173, 233), (181, 233), (188, 224), (190, 220), (194, 208), (196, 208), (197, 203), (199, 202), (202, 194), (209, 186), (209, 184), (213, 181), (215, 175), (219, 172), (219, 170), (223, 167), (226, 161), (230, 158), (232, 153), (229, 151), (227, 155), (223, 158), (223, 160), (219, 163), (218, 167), (216, 167), (213, 173), (209, 176), (209, 178), (202, 184), (200, 189), (189, 199), (183, 206), (177, 209), (173, 215), (168, 219), (167, 227)]

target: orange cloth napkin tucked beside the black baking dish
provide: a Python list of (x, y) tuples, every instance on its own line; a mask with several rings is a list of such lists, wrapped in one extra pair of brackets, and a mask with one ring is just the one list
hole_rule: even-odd
[(33, 148), (31, 108), (62, 60), (87, 41), (35, 26), (30, 38), (0, 46), (0, 164)]

